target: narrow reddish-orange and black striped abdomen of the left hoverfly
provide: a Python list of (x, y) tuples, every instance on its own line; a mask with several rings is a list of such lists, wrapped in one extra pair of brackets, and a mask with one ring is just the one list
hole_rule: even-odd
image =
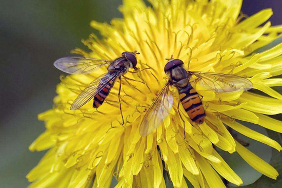
[(98, 86), (97, 89), (99, 89), (100, 87), (104, 87), (102, 90), (100, 90), (97, 95), (95, 95), (94, 97), (94, 101), (93, 101), (93, 107), (97, 108), (100, 105), (103, 104), (103, 102), (105, 101), (105, 99), (107, 98), (107, 96), (110, 93), (111, 88), (113, 87), (114, 81), (110, 81), (107, 82), (105, 84), (105, 87), (103, 85)]

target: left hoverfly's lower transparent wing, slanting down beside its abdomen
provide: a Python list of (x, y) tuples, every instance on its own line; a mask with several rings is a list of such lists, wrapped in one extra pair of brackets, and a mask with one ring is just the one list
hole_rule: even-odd
[(85, 105), (88, 101), (94, 98), (98, 92), (105, 88), (109, 82), (113, 81), (114, 84), (116, 78), (119, 76), (119, 73), (120, 71), (108, 72), (95, 79), (79, 94), (79, 96), (72, 103), (70, 109), (75, 110)]

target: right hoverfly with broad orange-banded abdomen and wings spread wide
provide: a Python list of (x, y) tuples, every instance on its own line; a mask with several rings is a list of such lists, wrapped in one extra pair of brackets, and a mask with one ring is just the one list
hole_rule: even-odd
[[(169, 80), (158, 93), (141, 122), (139, 128), (141, 136), (149, 135), (168, 116), (173, 105), (170, 85), (176, 87), (179, 93), (177, 105), (179, 115), (181, 102), (191, 121), (197, 124), (205, 121), (206, 114), (202, 100), (190, 82), (199, 83), (204, 88), (217, 93), (249, 90), (253, 87), (252, 82), (248, 79), (232, 74), (187, 71), (183, 61), (179, 59), (169, 59), (164, 70)], [(195, 80), (193, 76), (196, 77)], [(182, 118), (181, 115), (180, 118)]]

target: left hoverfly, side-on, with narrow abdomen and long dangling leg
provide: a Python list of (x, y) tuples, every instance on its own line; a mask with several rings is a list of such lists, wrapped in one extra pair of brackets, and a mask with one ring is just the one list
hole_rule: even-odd
[[(99, 60), (92, 58), (83, 58), (83, 57), (66, 57), (61, 58), (55, 61), (54, 66), (62, 70), (66, 73), (70, 74), (88, 74), (90, 72), (94, 72), (98, 70), (100, 67), (108, 66), (108, 72), (103, 74), (102, 76), (95, 79), (91, 82), (74, 100), (70, 109), (75, 110), (77, 108), (82, 107), (87, 102), (89, 102), (92, 98), (93, 107), (98, 108), (103, 104), (105, 99), (110, 93), (110, 90), (114, 86), (117, 78), (119, 79), (119, 91), (118, 91), (118, 102), (120, 113), (122, 114), (122, 106), (120, 104), (120, 89), (121, 89), (121, 77), (123, 76), (126, 79), (129, 79), (124, 76), (127, 72), (135, 73), (139, 71), (129, 71), (129, 68), (133, 68), (134, 70), (138, 70), (136, 68), (137, 59), (136, 59), (137, 51), (134, 52), (123, 52), (122, 57), (119, 57), (113, 61), (110, 60)], [(142, 70), (140, 70), (142, 71)], [(129, 79), (133, 80), (133, 79)], [(133, 80), (135, 81), (135, 80)], [(123, 114), (122, 114), (123, 118)], [(123, 118), (124, 124), (124, 118)]]

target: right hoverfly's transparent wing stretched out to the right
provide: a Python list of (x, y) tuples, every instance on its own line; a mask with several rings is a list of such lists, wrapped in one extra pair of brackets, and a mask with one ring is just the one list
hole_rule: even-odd
[(196, 71), (188, 71), (188, 73), (196, 76), (198, 78), (196, 81), (204, 88), (215, 92), (249, 90), (253, 87), (250, 80), (232, 74)]

